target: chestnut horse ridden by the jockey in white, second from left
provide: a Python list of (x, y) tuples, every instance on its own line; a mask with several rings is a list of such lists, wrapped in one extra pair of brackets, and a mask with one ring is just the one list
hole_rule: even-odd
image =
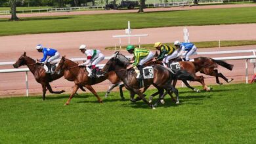
[[(104, 76), (98, 78), (88, 77), (89, 73), (86, 70), (86, 67), (78, 66), (77, 63), (73, 62), (72, 60), (66, 59), (64, 56), (60, 60), (60, 63), (58, 64), (58, 67), (56, 67), (55, 71), (62, 71), (62, 73), (64, 73), (65, 79), (75, 82), (72, 94), (70, 94), (70, 98), (65, 103), (65, 105), (70, 104), (71, 99), (74, 97), (74, 94), (77, 92), (77, 89), (80, 86), (85, 86), (96, 96), (98, 101), (102, 103), (102, 99), (98, 96), (98, 94), (95, 92), (91, 85), (100, 83), (102, 81), (105, 81), (106, 79), (112, 82), (112, 84), (120, 82), (120, 79), (117, 77), (114, 71), (110, 71), (110, 73), (106, 73)], [(73, 77), (75, 77), (75, 79), (73, 79)]]

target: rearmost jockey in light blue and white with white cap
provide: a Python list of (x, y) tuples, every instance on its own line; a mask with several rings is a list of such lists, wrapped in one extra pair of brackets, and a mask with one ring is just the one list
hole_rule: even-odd
[(177, 48), (178, 57), (181, 56), (184, 51), (187, 51), (184, 55), (186, 61), (189, 61), (189, 56), (196, 54), (197, 48), (193, 43), (181, 43), (180, 41), (175, 41), (174, 45)]

